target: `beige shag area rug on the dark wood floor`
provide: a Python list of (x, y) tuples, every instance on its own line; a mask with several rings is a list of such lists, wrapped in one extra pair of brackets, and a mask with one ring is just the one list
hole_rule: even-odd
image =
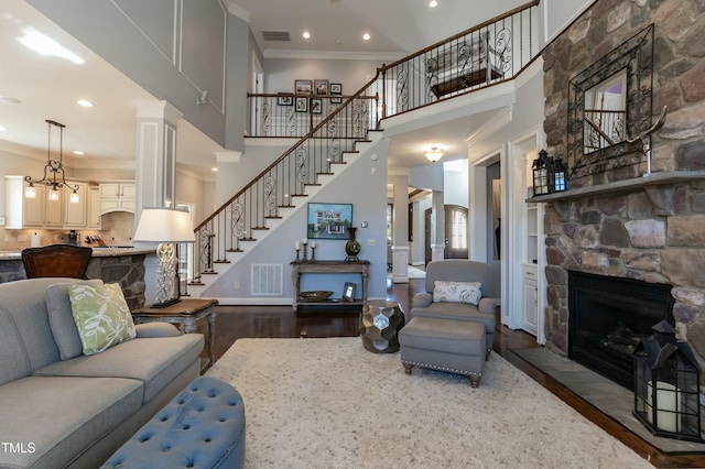
[(497, 353), (482, 382), (359, 338), (239, 339), (208, 371), (246, 410), (246, 468), (650, 468)]

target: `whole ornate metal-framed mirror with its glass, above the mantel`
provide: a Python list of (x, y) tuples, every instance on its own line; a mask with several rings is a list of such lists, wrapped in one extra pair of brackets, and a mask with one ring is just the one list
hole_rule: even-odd
[(627, 139), (651, 126), (653, 24), (568, 81), (566, 151), (572, 187), (637, 174), (643, 155)]

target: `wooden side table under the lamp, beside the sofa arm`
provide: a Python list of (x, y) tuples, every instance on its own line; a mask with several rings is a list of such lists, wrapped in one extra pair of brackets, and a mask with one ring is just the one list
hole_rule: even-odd
[(215, 341), (216, 305), (217, 299), (182, 298), (181, 302), (164, 308), (141, 307), (132, 312), (134, 324), (171, 323), (182, 332), (195, 332), (198, 319), (208, 319), (208, 361), (202, 367), (202, 372), (213, 366), (213, 345)]

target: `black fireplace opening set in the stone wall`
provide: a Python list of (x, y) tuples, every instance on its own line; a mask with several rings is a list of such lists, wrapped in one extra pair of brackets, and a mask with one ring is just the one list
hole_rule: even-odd
[(633, 391), (632, 352), (661, 320), (672, 285), (568, 271), (568, 358)]

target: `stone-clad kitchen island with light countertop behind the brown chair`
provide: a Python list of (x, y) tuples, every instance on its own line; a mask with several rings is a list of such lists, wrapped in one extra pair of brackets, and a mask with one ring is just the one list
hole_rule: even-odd
[[(130, 310), (144, 306), (144, 259), (154, 249), (93, 248), (86, 276), (119, 283)], [(26, 279), (21, 251), (0, 251), (0, 283)]]

